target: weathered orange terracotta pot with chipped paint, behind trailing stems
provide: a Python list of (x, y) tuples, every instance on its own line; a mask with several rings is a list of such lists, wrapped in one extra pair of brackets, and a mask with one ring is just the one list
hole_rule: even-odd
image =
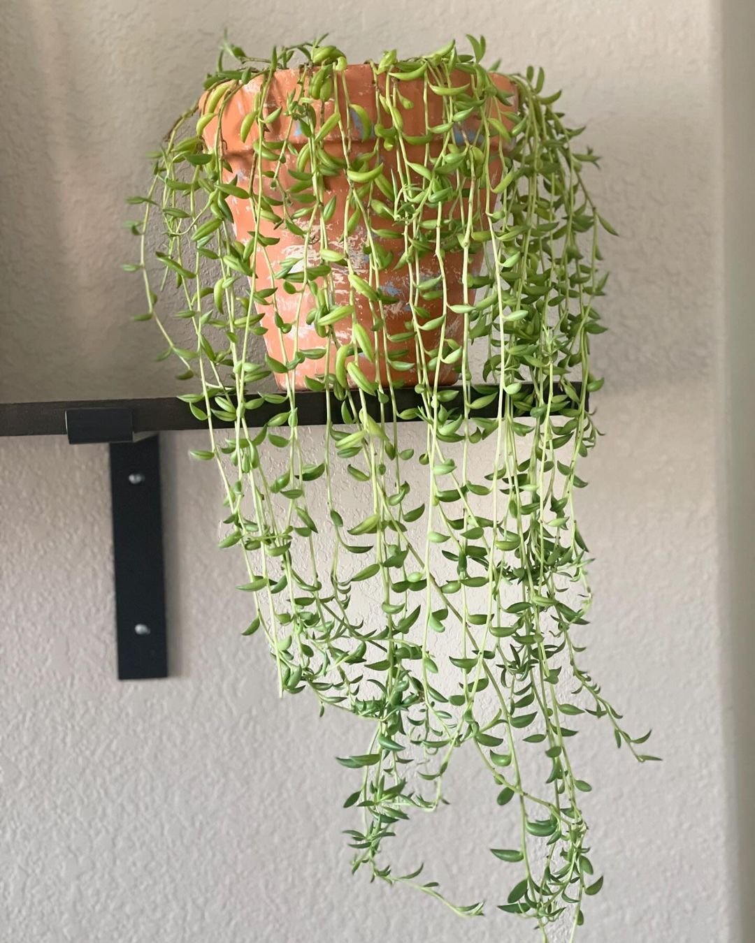
[[(277, 159), (270, 157), (258, 157), (255, 146), (259, 140), (259, 124), (252, 125), (246, 141), (242, 141), (241, 129), (243, 120), (256, 106), (260, 90), (263, 88), (265, 78), (262, 75), (255, 76), (247, 85), (234, 92), (228, 99), (222, 112), (221, 139), (223, 146), (223, 156), (231, 168), (227, 170), (226, 179), (231, 180), (236, 177), (237, 183), (243, 189), (251, 191), (251, 199), (243, 199), (237, 196), (228, 197), (228, 205), (233, 214), (233, 221), (236, 229), (237, 239), (247, 242), (255, 229), (259, 226), (260, 235), (272, 239), (277, 239), (277, 244), (266, 247), (264, 252), (258, 251), (254, 260), (254, 270), (256, 273), (255, 289), (264, 292), (274, 286), (281, 285), (284, 278), (281, 276), (281, 267), (283, 272), (285, 266), (291, 265), (294, 260), (293, 272), (301, 271), (304, 266), (304, 257), (307, 256), (308, 267), (316, 266), (321, 262), (320, 249), (323, 242), (322, 226), (319, 218), (310, 226), (309, 235), (304, 237), (296, 235), (285, 225), (275, 219), (260, 218), (256, 221), (255, 216), (255, 195), (259, 194), (261, 186), (263, 195), (273, 201), (280, 200), (281, 190), (296, 192), (296, 186), (301, 189), (301, 181), (295, 176), (296, 158), (301, 149), (307, 145), (309, 138), (305, 135), (302, 127), (293, 118), (285, 112), (287, 102), (306, 94), (312, 73), (305, 73), (300, 69), (287, 69), (276, 72), (269, 80), (265, 91), (265, 101), (262, 103), (261, 115), (274, 114), (278, 108), (280, 112), (273, 121), (266, 125), (264, 131), (264, 141), (286, 141), (284, 148), (284, 157), (278, 168)], [(385, 94), (386, 76), (385, 74), (375, 75), (372, 66), (369, 64), (350, 65), (342, 73), (333, 73), (337, 83), (334, 100), (329, 100), (321, 105), (315, 102), (317, 110), (320, 112), (318, 120), (312, 129), (317, 132), (319, 128), (327, 122), (327, 119), (339, 108), (341, 122), (331, 130), (327, 131), (322, 139), (323, 146), (328, 155), (347, 161), (348, 166), (353, 168), (355, 162), (364, 154), (371, 154), (376, 146), (375, 124), (383, 128), (390, 128), (394, 121), (391, 115), (382, 107), (379, 102), (377, 92)], [(509, 103), (504, 106), (497, 98), (488, 99), (489, 114), (498, 119), (502, 124), (511, 128), (511, 112), (516, 106), (516, 92), (511, 81), (505, 75), (492, 76), (495, 85), (501, 91), (510, 94)], [(472, 80), (469, 74), (461, 71), (455, 71), (451, 74), (451, 84), (453, 86), (466, 85)], [(400, 92), (403, 102), (400, 99), (394, 99), (394, 106), (400, 115), (399, 121), (403, 125), (403, 138), (407, 136), (422, 137), (428, 134), (428, 127), (442, 124), (444, 121), (444, 98), (427, 89), (425, 81), (420, 79), (408, 79), (401, 82), (392, 82), (394, 88)], [(427, 96), (427, 105), (426, 105)], [(206, 100), (200, 102), (200, 108)], [(353, 106), (358, 106), (358, 112)], [(363, 111), (361, 111), (363, 109)], [(364, 122), (360, 117), (364, 113), (369, 119), (370, 126), (365, 128)], [(460, 124), (454, 125), (454, 134), (457, 141), (463, 141), (465, 138), (470, 141), (478, 141), (480, 119), (479, 116), (471, 115)], [(217, 118), (213, 118), (203, 130), (203, 137), (206, 145), (211, 150), (215, 146), (217, 138)], [(345, 139), (345, 141), (344, 141)], [(433, 136), (429, 143), (410, 143), (404, 141), (403, 154), (401, 160), (402, 168), (405, 168), (404, 160), (411, 161), (418, 165), (424, 165), (429, 157), (437, 157), (442, 148), (441, 135)], [(495, 187), (502, 173), (502, 162), (498, 154), (497, 145), (491, 148), (491, 157), (489, 165), (490, 185)], [(383, 173), (387, 179), (397, 176), (399, 160), (395, 147), (386, 146), (386, 141), (380, 139), (378, 142), (377, 157), (374, 157), (372, 163), (381, 162)], [(358, 164), (359, 166), (359, 164)], [(271, 172), (277, 170), (277, 185), (274, 184), (270, 176)], [(294, 172), (294, 174), (292, 174)], [(421, 183), (420, 174), (411, 171), (411, 182)], [(335, 211), (325, 223), (325, 233), (327, 238), (327, 248), (341, 251), (347, 255), (354, 274), (369, 281), (370, 279), (370, 249), (367, 227), (372, 230), (369, 234), (373, 240), (373, 245), (385, 253), (392, 254), (393, 260), (400, 258), (405, 249), (403, 232), (399, 232), (393, 226), (396, 232), (395, 237), (385, 238), (377, 237), (374, 230), (391, 227), (387, 223), (368, 209), (366, 220), (360, 220), (356, 227), (350, 232), (344, 240), (344, 221), (349, 213), (353, 212), (353, 207), (349, 204), (349, 196), (354, 189), (354, 184), (349, 183), (345, 171), (325, 177), (326, 196), (323, 203), (327, 203), (335, 197)], [(381, 197), (376, 190), (375, 195)], [(495, 200), (495, 195), (486, 192), (478, 193), (478, 199), (485, 201)], [(296, 208), (294, 196), (294, 209)], [(306, 202), (302, 201), (301, 207), (306, 207)], [(468, 198), (464, 197), (460, 206), (457, 200), (455, 205), (441, 204), (441, 218), (448, 219), (453, 216), (460, 216), (461, 212), (466, 212)], [(439, 214), (438, 205), (426, 206), (423, 210), (423, 217), (427, 220), (437, 219)], [(302, 226), (304, 228), (304, 226)], [(344, 245), (345, 241), (345, 245)], [(478, 248), (477, 246), (475, 248)], [(366, 251), (365, 251), (366, 250)], [(470, 256), (467, 263), (468, 273), (478, 273), (482, 264), (482, 252), (477, 251)], [(450, 306), (458, 306), (463, 303), (463, 288), (461, 284), (461, 274), (464, 268), (464, 255), (461, 249), (446, 249), (443, 255), (443, 270), (445, 272), (446, 296), (422, 300), (424, 311), (422, 317), (424, 321), (437, 318), (445, 313), (445, 339), (461, 342), (463, 337), (464, 315), (454, 313), (449, 310)], [(441, 273), (441, 265), (438, 258), (431, 253), (423, 256), (413, 271), (414, 282), (424, 282), (435, 278)], [(370, 379), (378, 380), (385, 385), (389, 380), (395, 386), (403, 383), (404, 385), (413, 385), (417, 382), (417, 355), (416, 343), (407, 339), (392, 340), (394, 336), (406, 335), (412, 332), (414, 337), (420, 335), (420, 342), (426, 351), (437, 348), (440, 342), (440, 329), (414, 332), (412, 326), (412, 315), (409, 304), (411, 297), (411, 279), (408, 265), (400, 267), (395, 266), (394, 261), (389, 267), (380, 272), (379, 288), (381, 298), (379, 303), (376, 300), (370, 300), (363, 294), (352, 290), (349, 282), (348, 268), (346, 266), (334, 265), (332, 267), (332, 296), (329, 299), (330, 306), (353, 305), (355, 316), (372, 336), (374, 325), (382, 321), (386, 327), (386, 333), (389, 336), (387, 344), (380, 342), (377, 350), (377, 369), (372, 361), (364, 356), (359, 357), (359, 366), (361, 372)], [(322, 281), (322, 279), (320, 279)], [(308, 323), (308, 316), (315, 306), (315, 299), (310, 290), (304, 286), (288, 286), (289, 290), (280, 288), (275, 296), (275, 307), (270, 299), (268, 304), (261, 303), (262, 325), (266, 328), (264, 335), (267, 352), (270, 356), (282, 363), (290, 363), (295, 356), (296, 351), (322, 349), (324, 346), (323, 338), (318, 335), (313, 323)], [(468, 300), (472, 301), (474, 292), (470, 292)], [(286, 324), (294, 325), (288, 333), (281, 332), (276, 325), (276, 314)], [(311, 320), (311, 318), (310, 318)], [(348, 344), (352, 340), (352, 316), (348, 315), (342, 321), (332, 325), (339, 344)], [(378, 337), (382, 332), (378, 332)], [(399, 359), (404, 363), (410, 364), (409, 370), (402, 372), (392, 371), (385, 363), (386, 351), (389, 356)], [(305, 389), (305, 377), (320, 377), (329, 369), (333, 370), (332, 362), (326, 367), (325, 359), (305, 359), (294, 369), (294, 386), (296, 389)], [(286, 375), (277, 373), (277, 381), (281, 387), (286, 386)], [(432, 374), (430, 374), (432, 375)], [(438, 382), (442, 386), (452, 385), (458, 375), (458, 365), (450, 366), (441, 364)]]

